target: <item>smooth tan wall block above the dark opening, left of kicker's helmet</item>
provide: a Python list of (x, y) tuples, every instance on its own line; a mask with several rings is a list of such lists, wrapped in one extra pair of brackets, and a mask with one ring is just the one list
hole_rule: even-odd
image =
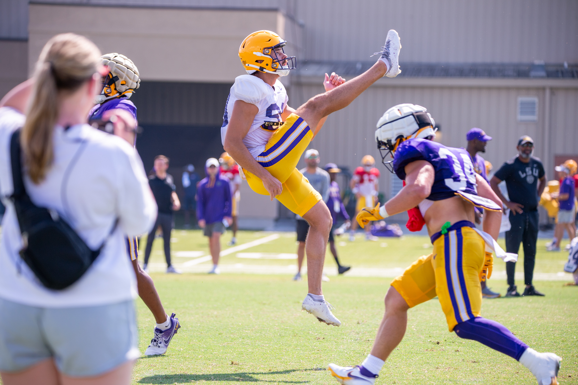
[(143, 80), (234, 82), (243, 39), (285, 25), (275, 11), (30, 5), (29, 66), (62, 32), (87, 36), (103, 53), (127, 55)]

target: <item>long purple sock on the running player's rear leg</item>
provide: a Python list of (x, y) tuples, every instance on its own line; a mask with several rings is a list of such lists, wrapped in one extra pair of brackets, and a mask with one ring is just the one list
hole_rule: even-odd
[(455, 325), (454, 331), (458, 337), (476, 340), (507, 354), (514, 360), (520, 360), (524, 351), (528, 349), (528, 345), (513, 335), (504, 325), (483, 317), (461, 322)]

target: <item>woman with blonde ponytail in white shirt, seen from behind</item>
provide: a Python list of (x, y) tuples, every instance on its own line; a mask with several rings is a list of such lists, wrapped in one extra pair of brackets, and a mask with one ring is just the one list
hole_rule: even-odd
[[(82, 36), (54, 36), (32, 79), (0, 102), (0, 188), (7, 205), (0, 241), (5, 385), (129, 384), (140, 355), (135, 273), (124, 234), (149, 231), (157, 207), (142, 161), (127, 143), (134, 133), (116, 132), (121, 139), (87, 124), (102, 88), (100, 56)], [(13, 191), (9, 143), (20, 127), (24, 186), (32, 202), (57, 212), (90, 249), (105, 242), (88, 271), (64, 290), (44, 287), (18, 254), (23, 238), (6, 198)]]

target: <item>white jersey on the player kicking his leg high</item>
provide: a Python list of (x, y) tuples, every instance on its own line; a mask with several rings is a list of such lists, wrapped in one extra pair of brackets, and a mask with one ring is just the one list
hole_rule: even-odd
[(223, 126), (221, 127), (221, 141), (225, 144), (225, 135), (229, 126), (229, 117), (233, 112), (235, 102), (242, 100), (257, 106), (259, 112), (249, 128), (249, 132), (243, 138), (243, 143), (249, 149), (254, 158), (265, 151), (265, 145), (273, 136), (279, 125), (261, 127), (265, 122), (281, 122), (281, 112), (286, 108), (287, 91), (283, 84), (277, 80), (273, 87), (253, 75), (241, 75), (235, 78), (235, 84), (231, 87), (225, 113), (223, 114)]

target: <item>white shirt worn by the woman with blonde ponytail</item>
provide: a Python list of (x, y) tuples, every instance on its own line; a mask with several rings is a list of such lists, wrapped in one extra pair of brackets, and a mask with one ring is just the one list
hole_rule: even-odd
[[(0, 297), (42, 308), (97, 306), (136, 297), (136, 279), (127, 257), (124, 234), (135, 236), (153, 227), (157, 205), (138, 153), (124, 139), (105, 134), (88, 124), (65, 131), (54, 128), (54, 161), (46, 178), (34, 184), (23, 170), (24, 186), (38, 206), (54, 209), (92, 250), (97, 249), (118, 218), (97, 260), (65, 290), (44, 287), (20, 258), (20, 227), (8, 197), (13, 192), (10, 137), (24, 116), (0, 108), (0, 194), (6, 205), (0, 240)], [(64, 198), (62, 179), (72, 157), (86, 141), (84, 151), (69, 172)]]

